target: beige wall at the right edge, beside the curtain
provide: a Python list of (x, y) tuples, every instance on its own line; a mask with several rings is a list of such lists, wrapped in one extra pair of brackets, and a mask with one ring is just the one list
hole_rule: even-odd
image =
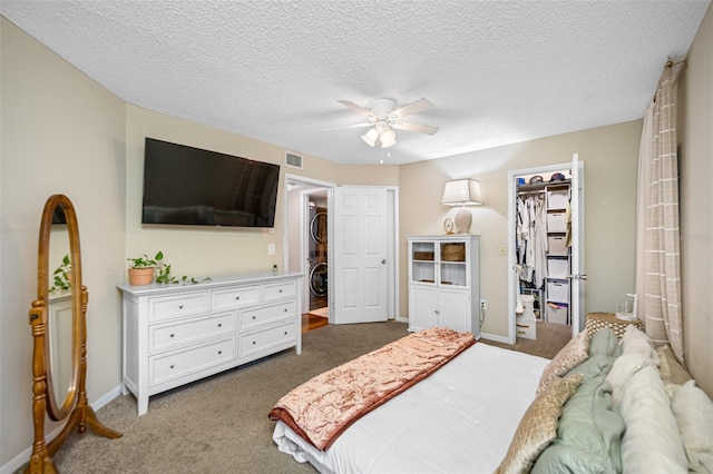
[(680, 85), (684, 356), (699, 385), (713, 397), (713, 8), (699, 29)]

